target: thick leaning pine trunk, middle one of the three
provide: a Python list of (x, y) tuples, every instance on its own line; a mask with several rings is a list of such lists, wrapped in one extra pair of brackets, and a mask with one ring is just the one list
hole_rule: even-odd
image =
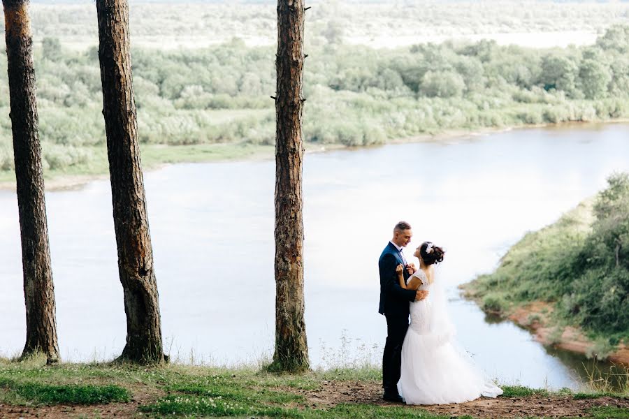
[(126, 313), (126, 346), (120, 358), (162, 362), (159, 296), (131, 83), (129, 7), (126, 0), (96, 0), (96, 11), (118, 271)]

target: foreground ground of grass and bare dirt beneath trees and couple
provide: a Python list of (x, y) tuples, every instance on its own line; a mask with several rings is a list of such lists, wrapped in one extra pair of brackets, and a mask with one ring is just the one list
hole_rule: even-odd
[(496, 399), (405, 406), (382, 400), (373, 367), (275, 375), (259, 367), (0, 360), (0, 417), (629, 418), (629, 394), (504, 385)]

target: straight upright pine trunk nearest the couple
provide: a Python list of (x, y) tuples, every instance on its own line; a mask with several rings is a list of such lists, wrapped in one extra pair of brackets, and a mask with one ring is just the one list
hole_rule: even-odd
[(303, 0), (277, 1), (275, 355), (272, 369), (307, 370), (303, 296)]

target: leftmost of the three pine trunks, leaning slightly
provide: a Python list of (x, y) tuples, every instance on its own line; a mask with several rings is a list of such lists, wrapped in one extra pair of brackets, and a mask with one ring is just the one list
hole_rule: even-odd
[(27, 314), (27, 339), (22, 358), (43, 352), (51, 363), (59, 360), (59, 344), (41, 169), (29, 1), (3, 0), (2, 4)]

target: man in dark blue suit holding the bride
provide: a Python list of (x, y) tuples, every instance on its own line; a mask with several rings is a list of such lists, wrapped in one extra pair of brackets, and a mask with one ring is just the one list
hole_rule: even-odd
[(382, 387), (385, 400), (402, 402), (398, 393), (400, 367), (402, 364), (402, 343), (408, 328), (409, 303), (424, 300), (428, 291), (405, 290), (398, 283), (396, 266), (400, 263), (406, 267), (404, 279), (417, 271), (415, 265), (406, 263), (402, 249), (410, 243), (413, 235), (411, 226), (400, 221), (393, 228), (393, 238), (378, 260), (380, 271), (380, 307), (379, 314), (386, 318), (386, 344), (382, 354)]

